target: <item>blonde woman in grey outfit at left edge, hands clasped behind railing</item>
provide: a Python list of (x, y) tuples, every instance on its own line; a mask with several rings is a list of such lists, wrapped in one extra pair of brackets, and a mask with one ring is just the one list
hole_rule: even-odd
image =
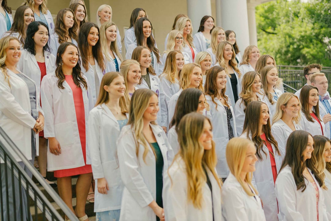
[[(28, 78), (18, 69), (16, 65), (21, 57), (20, 42), (12, 36), (3, 37), (0, 40), (0, 127), (6, 132), (23, 155), (33, 164), (35, 154), (38, 154), (38, 133), (43, 130), (44, 117), (39, 106), (39, 93), (33, 80)], [(18, 136), (19, 135), (19, 136)], [(12, 153), (19, 165), (32, 178), (31, 172), (25, 167), (21, 159)], [(19, 181), (12, 177), (12, 171), (8, 171), (7, 165), (1, 159), (2, 195), (8, 194), (8, 201), (3, 197), (4, 220), (14, 219), (28, 220), (27, 196), (23, 187), (19, 188)], [(8, 173), (8, 176), (5, 174)], [(8, 182), (5, 182), (7, 180)], [(12, 184), (12, 179), (14, 183)], [(8, 184), (8, 186), (6, 185)], [(14, 188), (13, 188), (14, 186)], [(15, 193), (15, 194), (14, 194)], [(20, 193), (20, 194), (19, 194)], [(13, 199), (15, 196), (15, 199)], [(20, 199), (22, 196), (22, 200)], [(22, 210), (14, 207), (21, 203)], [(23, 217), (21, 217), (21, 212)], [(7, 216), (8, 215), (8, 216)], [(8, 220), (9, 221), (9, 220)]]

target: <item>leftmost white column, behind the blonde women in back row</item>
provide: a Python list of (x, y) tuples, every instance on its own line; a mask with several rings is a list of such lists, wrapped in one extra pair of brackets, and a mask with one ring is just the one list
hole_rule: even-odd
[(187, 16), (192, 21), (193, 34), (198, 32), (200, 21), (205, 15), (212, 16), (211, 0), (187, 0)]

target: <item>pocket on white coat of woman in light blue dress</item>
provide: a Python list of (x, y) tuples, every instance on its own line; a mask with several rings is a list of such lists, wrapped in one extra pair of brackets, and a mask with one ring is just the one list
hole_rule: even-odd
[(121, 175), (116, 160), (102, 163), (102, 168), (109, 187), (122, 185)]

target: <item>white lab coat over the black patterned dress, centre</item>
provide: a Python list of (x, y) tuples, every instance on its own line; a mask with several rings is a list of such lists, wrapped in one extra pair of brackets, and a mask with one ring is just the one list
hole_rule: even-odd
[[(225, 178), (230, 172), (225, 157), (226, 144), (229, 142), (226, 110), (218, 99), (214, 99), (214, 101), (217, 103), (217, 110), (211, 96), (206, 95), (206, 101), (209, 104), (209, 111), (212, 116), (210, 120), (213, 122), (213, 140), (215, 141), (215, 149), (217, 155), (216, 171), (219, 177)], [(228, 103), (230, 103), (230, 101)], [(236, 119), (231, 103), (229, 106), (232, 113), (230, 122), (233, 136), (237, 137)]]

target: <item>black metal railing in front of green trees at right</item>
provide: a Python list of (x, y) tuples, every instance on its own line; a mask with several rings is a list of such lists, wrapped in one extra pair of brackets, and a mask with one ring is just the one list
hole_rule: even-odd
[[(283, 79), (284, 90), (288, 92), (296, 92), (305, 85), (306, 78), (304, 76), (305, 66), (277, 65), (279, 77)], [(329, 88), (331, 88), (331, 67), (322, 67), (322, 73), (329, 80)]]

